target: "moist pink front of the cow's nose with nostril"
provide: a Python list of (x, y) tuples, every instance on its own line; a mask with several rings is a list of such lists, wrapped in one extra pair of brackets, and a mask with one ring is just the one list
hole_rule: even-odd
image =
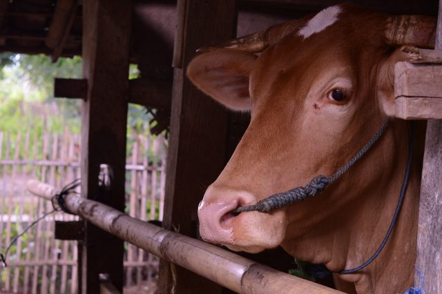
[(207, 242), (229, 244), (233, 241), (232, 220), (236, 217), (231, 210), (238, 207), (238, 200), (231, 202), (200, 203), (200, 235)]

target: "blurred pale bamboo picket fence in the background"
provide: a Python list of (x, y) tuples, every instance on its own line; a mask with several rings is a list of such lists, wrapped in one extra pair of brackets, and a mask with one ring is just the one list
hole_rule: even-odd
[[(31, 135), (35, 133), (0, 133), (0, 253), (17, 232), (52, 210), (50, 203), (26, 191), (28, 179), (61, 187), (79, 178), (79, 135)], [(165, 148), (161, 136), (128, 138), (128, 215), (162, 220)], [(49, 215), (18, 239), (0, 275), (0, 293), (77, 293), (77, 244), (53, 235), (54, 220), (73, 219), (77, 217), (65, 213)], [(125, 287), (143, 293), (155, 282), (158, 259), (131, 244), (126, 248)]]

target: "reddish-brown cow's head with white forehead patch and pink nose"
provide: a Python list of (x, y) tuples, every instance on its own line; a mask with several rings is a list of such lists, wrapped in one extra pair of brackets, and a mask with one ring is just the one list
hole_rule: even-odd
[(251, 122), (200, 203), (202, 237), (256, 253), (344, 222), (394, 168), (392, 131), (352, 168), (358, 176), (345, 175), (323, 195), (271, 213), (231, 210), (333, 175), (394, 115), (394, 63), (431, 39), (430, 19), (344, 4), (203, 50), (189, 78), (224, 106), (251, 111)]

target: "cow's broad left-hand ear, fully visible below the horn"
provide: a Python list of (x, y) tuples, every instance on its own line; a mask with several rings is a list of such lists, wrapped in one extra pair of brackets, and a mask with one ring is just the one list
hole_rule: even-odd
[(249, 75), (256, 56), (239, 50), (216, 50), (195, 57), (187, 76), (195, 86), (232, 110), (250, 110)]

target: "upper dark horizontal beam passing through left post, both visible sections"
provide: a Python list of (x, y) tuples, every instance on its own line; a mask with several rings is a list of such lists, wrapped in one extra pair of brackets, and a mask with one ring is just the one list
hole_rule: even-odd
[[(86, 99), (88, 81), (86, 79), (54, 79), (54, 97)], [(172, 83), (153, 79), (131, 79), (129, 81), (128, 102), (148, 108), (171, 109)]]

